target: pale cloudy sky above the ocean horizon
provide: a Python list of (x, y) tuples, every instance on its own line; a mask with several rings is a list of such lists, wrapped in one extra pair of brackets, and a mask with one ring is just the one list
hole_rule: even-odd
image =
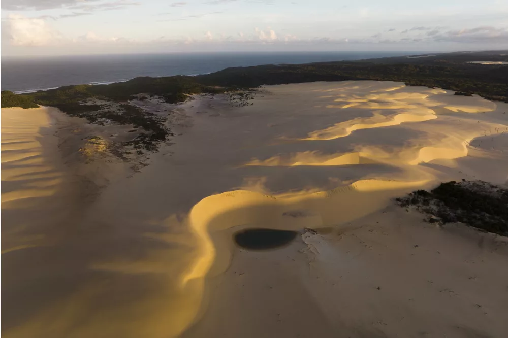
[(508, 49), (508, 0), (3, 0), (2, 56)]

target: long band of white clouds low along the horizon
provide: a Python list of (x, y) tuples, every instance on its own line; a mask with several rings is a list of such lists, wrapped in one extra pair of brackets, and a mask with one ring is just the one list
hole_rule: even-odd
[[(140, 48), (150, 48), (152, 45), (159, 43), (165, 46), (183, 46), (190, 45), (199, 48), (206, 45), (207, 48), (236, 48), (233, 46), (256, 46), (266, 45), (270, 48), (284, 45), (284, 48), (306, 48), (309, 46), (322, 46), (326, 48), (334, 48), (338, 44), (357, 45), (382, 45), (382, 44), (400, 44), (409, 46), (422, 45), (422, 43), (437, 45), (446, 45), (449, 42), (475, 44), (477, 46), (487, 46), (487, 44), (498, 44), (506, 46), (508, 44), (508, 28), (499, 28), (492, 26), (480, 26), (474, 28), (450, 30), (446, 27), (424, 27), (415, 26), (407, 29), (407, 33), (399, 35), (391, 33), (390, 39), (384, 39), (382, 33), (372, 33), (365, 37), (357, 36), (347, 39), (345, 36), (334, 37), (315, 37), (315, 38), (297, 38), (290, 33), (277, 34), (271, 27), (265, 29), (255, 28), (251, 33), (238, 32), (236, 34), (223, 33), (220, 31), (206, 31), (198, 36), (172, 37), (165, 36), (157, 38), (149, 38), (140, 40), (125, 39), (120, 37), (103, 36), (97, 31), (84, 31), (76, 34), (74, 37), (64, 36), (61, 32), (51, 26), (53, 19), (65, 18), (71, 16), (83, 15), (83, 12), (74, 12), (67, 15), (59, 16), (40, 16), (25, 17), (17, 14), (9, 14), (2, 22), (2, 42), (7, 43), (6, 47), (30, 47), (36, 50), (41, 46), (60, 46), (62, 49), (73, 50), (74, 48), (88, 48), (92, 50), (94, 46), (101, 50), (115, 50), (116, 48), (132, 48), (132, 50)], [(84, 12), (87, 13), (87, 12)], [(196, 16), (196, 15), (195, 15)], [(188, 16), (188, 17), (195, 17)], [(398, 38), (395, 35), (399, 35)], [(290, 47), (293, 46), (293, 47)], [(168, 47), (168, 48), (173, 48)], [(49, 48), (49, 47), (48, 47)], [(238, 47), (242, 48), (242, 47)], [(315, 47), (317, 48), (317, 47)], [(315, 49), (314, 48), (314, 49)], [(405, 47), (404, 47), (405, 48)], [(39, 48), (42, 50), (42, 48)]]

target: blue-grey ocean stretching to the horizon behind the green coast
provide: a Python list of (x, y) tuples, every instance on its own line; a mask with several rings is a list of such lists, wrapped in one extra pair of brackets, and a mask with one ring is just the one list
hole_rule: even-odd
[(3, 57), (2, 90), (16, 93), (76, 84), (107, 84), (138, 76), (207, 74), (227, 67), (415, 55), (417, 52), (272, 52)]

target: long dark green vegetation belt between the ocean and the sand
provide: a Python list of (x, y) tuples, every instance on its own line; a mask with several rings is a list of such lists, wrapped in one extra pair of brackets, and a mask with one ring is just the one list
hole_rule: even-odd
[[(170, 130), (164, 119), (129, 104), (129, 100), (161, 97), (173, 104), (184, 102), (190, 94), (230, 92), (237, 107), (251, 105), (253, 92), (246, 90), (261, 85), (314, 81), (376, 80), (404, 82), (411, 86), (439, 87), (457, 91), (457, 95), (481, 95), (491, 100), (508, 100), (508, 66), (465, 63), (481, 60), (508, 61), (508, 57), (489, 55), (493, 52), (448, 53), (428, 58), (380, 58), (363, 61), (318, 62), (309, 64), (262, 65), (228, 68), (207, 75), (139, 77), (108, 85), (65, 86), (47, 91), (16, 95), (2, 92), (2, 107), (37, 107), (37, 104), (59, 108), (90, 122), (109, 119), (120, 124), (133, 124), (144, 132), (135, 140), (136, 146), (156, 149)], [(504, 53), (504, 52), (503, 52)], [(500, 53), (498, 53), (500, 54)], [(504, 53), (506, 54), (506, 53)], [(108, 105), (84, 104), (95, 98), (120, 103), (121, 112)]]

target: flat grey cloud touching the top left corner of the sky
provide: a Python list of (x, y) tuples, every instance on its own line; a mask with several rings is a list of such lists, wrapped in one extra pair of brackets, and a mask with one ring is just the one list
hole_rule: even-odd
[(84, 11), (116, 10), (127, 6), (140, 5), (129, 0), (3, 0), (2, 9), (9, 11), (79, 9)]

